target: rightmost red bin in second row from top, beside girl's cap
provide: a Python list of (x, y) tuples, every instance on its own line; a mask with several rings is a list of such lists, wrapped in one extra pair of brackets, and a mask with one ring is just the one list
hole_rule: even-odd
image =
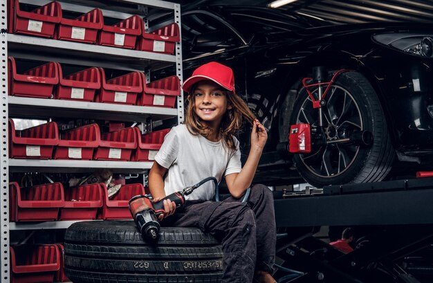
[(181, 82), (177, 75), (146, 84), (142, 73), (142, 80), (143, 91), (138, 97), (137, 105), (174, 108), (176, 96), (181, 95)]

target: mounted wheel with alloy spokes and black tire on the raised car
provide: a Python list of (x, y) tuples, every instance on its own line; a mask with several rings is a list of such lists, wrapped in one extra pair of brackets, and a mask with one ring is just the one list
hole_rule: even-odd
[[(311, 91), (316, 93), (318, 90)], [(384, 179), (391, 169), (395, 152), (385, 114), (371, 84), (360, 73), (342, 73), (325, 100), (322, 127), (319, 126), (319, 111), (313, 108), (306, 89), (300, 89), (293, 105), (291, 125), (308, 123), (312, 138), (317, 134), (321, 137), (321, 143), (313, 144), (311, 153), (293, 157), (298, 172), (317, 188)], [(372, 134), (370, 145), (333, 143), (363, 131)]]

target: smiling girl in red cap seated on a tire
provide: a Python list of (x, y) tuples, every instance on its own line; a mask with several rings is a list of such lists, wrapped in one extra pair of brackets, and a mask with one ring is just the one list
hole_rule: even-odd
[[(198, 227), (222, 238), (221, 282), (274, 283), (275, 261), (273, 195), (264, 185), (254, 185), (248, 202), (240, 201), (250, 187), (263, 147), (266, 129), (234, 92), (234, 75), (228, 66), (210, 62), (197, 68), (183, 84), (187, 96), (185, 124), (173, 127), (155, 156), (149, 172), (154, 201), (214, 176), (225, 177), (231, 197), (212, 201), (215, 190), (207, 182), (186, 197), (175, 212), (164, 201), (164, 225)], [(252, 124), (250, 154), (241, 167), (239, 141), (233, 135), (242, 118)], [(254, 278), (253, 278), (254, 277)]]

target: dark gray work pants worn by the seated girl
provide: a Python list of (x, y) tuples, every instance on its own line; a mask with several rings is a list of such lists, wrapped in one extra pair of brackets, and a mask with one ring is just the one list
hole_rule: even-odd
[(223, 283), (250, 283), (255, 271), (273, 271), (275, 212), (273, 194), (265, 185), (254, 185), (246, 203), (233, 197), (186, 201), (163, 226), (197, 227), (221, 239)]

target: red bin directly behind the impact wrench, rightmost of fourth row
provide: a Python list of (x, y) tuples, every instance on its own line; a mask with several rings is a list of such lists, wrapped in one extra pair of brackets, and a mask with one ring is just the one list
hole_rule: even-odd
[(102, 206), (100, 219), (131, 219), (128, 201), (138, 194), (145, 194), (145, 188), (140, 183), (122, 185), (113, 199), (109, 199), (107, 189), (104, 190), (104, 206)]

